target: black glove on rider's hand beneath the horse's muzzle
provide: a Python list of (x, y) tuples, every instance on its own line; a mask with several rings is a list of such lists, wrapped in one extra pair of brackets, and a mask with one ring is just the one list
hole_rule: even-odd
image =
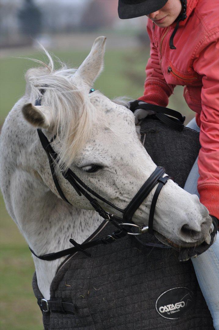
[(211, 215), (211, 218), (212, 218), (212, 225), (213, 226), (211, 225), (211, 233), (210, 233), (211, 240), (210, 240), (210, 243), (207, 244), (204, 241), (202, 244), (200, 244), (196, 247), (180, 249), (179, 256), (178, 256), (179, 261), (187, 261), (190, 258), (196, 258), (199, 254), (202, 254), (208, 248), (210, 248), (210, 246), (215, 242), (216, 236), (217, 236), (217, 230), (218, 230), (218, 219), (213, 215)]

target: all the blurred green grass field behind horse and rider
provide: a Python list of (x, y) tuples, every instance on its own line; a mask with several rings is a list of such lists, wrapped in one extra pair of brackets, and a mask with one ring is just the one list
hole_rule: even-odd
[[(77, 67), (87, 52), (54, 52), (63, 62)], [(19, 54), (20, 57), (43, 59), (40, 53)], [(138, 98), (143, 94), (144, 68), (149, 50), (107, 51), (105, 70), (95, 83), (106, 96)], [(2, 58), (1, 62), (0, 123), (25, 90), (24, 73), (37, 64), (27, 59)], [(187, 122), (194, 115), (182, 97), (181, 86), (175, 89), (169, 107), (187, 115)], [(41, 312), (34, 297), (31, 281), (34, 265), (30, 251), (16, 225), (7, 214), (1, 197), (1, 329), (43, 329)]]

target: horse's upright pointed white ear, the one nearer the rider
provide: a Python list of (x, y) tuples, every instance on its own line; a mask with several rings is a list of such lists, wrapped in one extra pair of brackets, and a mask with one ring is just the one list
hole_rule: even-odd
[(105, 42), (106, 37), (98, 37), (95, 39), (89, 55), (77, 70), (77, 74), (90, 87), (103, 70)]

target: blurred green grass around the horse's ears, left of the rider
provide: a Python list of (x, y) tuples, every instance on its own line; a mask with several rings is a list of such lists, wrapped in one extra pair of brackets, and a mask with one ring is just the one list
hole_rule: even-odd
[[(68, 51), (55, 52), (63, 62), (70, 67), (78, 67), (87, 52)], [(20, 56), (46, 60), (40, 53), (21, 54)], [(137, 56), (134, 52), (108, 51), (105, 56), (105, 70), (95, 84), (110, 98), (121, 95), (138, 97), (143, 92), (144, 66), (147, 58)], [(128, 63), (128, 65), (127, 65)], [(28, 68), (36, 66), (33, 61), (21, 58), (4, 58), (1, 60), (1, 124), (15, 102), (23, 95), (25, 90), (24, 73)], [(127, 66), (127, 67), (126, 67)], [(127, 73), (126, 73), (127, 70)], [(129, 76), (139, 72), (139, 81), (132, 82)], [(127, 76), (126, 76), (127, 75)], [(140, 88), (141, 86), (141, 88)]]

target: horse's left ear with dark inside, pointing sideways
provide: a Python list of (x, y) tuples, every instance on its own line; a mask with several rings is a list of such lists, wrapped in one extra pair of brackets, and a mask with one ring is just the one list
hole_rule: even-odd
[(22, 108), (24, 118), (33, 126), (49, 129), (52, 127), (51, 111), (48, 107), (27, 103)]

